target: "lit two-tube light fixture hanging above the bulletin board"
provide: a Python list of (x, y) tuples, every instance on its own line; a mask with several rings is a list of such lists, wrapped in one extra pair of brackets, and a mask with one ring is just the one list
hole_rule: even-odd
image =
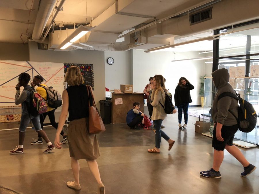
[[(94, 26), (95, 27), (95, 26)], [(79, 26), (75, 29), (72, 34), (70, 34), (60, 45), (58, 45), (57, 49), (66, 49), (69, 47), (73, 42), (79, 40), (83, 37), (87, 32), (91, 31), (94, 27), (91, 26)]]

